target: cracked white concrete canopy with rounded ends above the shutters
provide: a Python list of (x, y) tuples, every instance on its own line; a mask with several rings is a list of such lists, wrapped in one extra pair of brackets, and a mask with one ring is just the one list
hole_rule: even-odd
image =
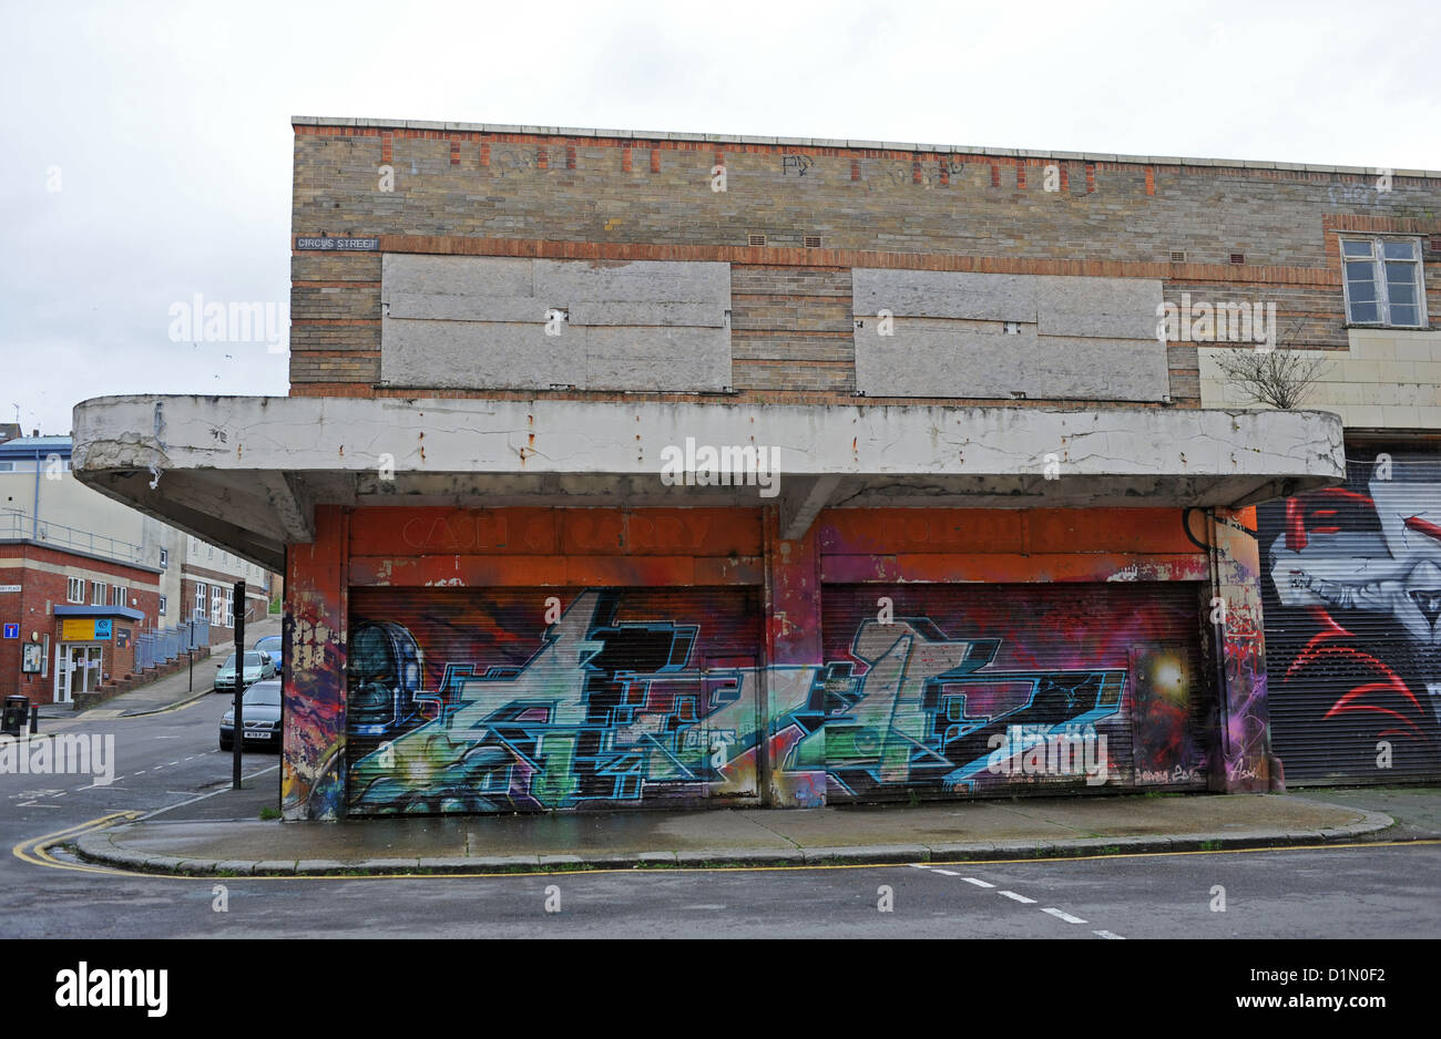
[[(843, 505), (1242, 507), (1344, 476), (1327, 412), (127, 396), (73, 429), (81, 481), (277, 570), (317, 502), (774, 502), (800, 537)], [(778, 448), (778, 471), (661, 478), (708, 446)]]

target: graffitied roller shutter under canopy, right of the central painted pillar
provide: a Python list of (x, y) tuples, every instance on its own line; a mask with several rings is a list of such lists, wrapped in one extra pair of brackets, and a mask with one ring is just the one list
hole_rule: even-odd
[(1180, 581), (827, 586), (829, 799), (1205, 789), (1199, 604)]

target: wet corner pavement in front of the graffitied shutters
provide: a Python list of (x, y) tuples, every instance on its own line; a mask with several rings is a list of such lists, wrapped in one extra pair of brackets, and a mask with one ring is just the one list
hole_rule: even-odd
[(284, 823), (261, 817), (274, 815), (277, 779), (68, 846), (127, 871), (264, 876), (948, 863), (1441, 839), (1441, 789), (1429, 787)]

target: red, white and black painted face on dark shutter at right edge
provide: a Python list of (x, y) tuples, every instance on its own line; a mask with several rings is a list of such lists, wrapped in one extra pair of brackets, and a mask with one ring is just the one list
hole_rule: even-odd
[(1287, 780), (1441, 771), (1441, 460), (1368, 450), (1259, 521)]

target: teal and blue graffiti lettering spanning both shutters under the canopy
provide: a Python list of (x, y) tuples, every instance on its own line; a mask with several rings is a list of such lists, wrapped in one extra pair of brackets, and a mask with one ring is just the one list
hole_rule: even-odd
[[(565, 596), (545, 626), (536, 602), (353, 599), (353, 812), (754, 802), (762, 747), (777, 789), (823, 776), (839, 800), (1205, 773), (1174, 645), (1128, 649), (1118, 635), (1097, 666), (1056, 666), (1025, 638), (953, 638), (955, 626), (914, 616), (849, 625), (826, 663), (762, 669), (745, 593), (592, 589)], [(1133, 672), (1150, 676), (1134, 760)], [(808, 800), (818, 791), (798, 791)]]

